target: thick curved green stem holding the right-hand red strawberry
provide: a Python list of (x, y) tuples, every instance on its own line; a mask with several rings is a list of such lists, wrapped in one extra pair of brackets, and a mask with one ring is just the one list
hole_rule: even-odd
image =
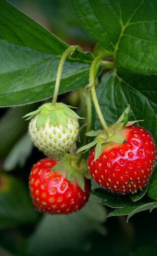
[(96, 70), (97, 70), (97, 73), (98, 73), (99, 67), (101, 66), (100, 61), (102, 61), (107, 56), (110, 56), (110, 54), (109, 53), (101, 54), (101, 55), (97, 56), (95, 58), (95, 60), (93, 61), (93, 63), (91, 64), (90, 73), (89, 73), (89, 84), (92, 87), (91, 88), (91, 95), (92, 95), (93, 103), (94, 103), (96, 112), (98, 114), (99, 120), (100, 120), (103, 128), (105, 129), (105, 132), (106, 132), (107, 136), (109, 136), (109, 135), (111, 135), (111, 132), (108, 129), (106, 123), (105, 123), (105, 120), (104, 120), (104, 117), (103, 117), (103, 114), (102, 114), (102, 111), (100, 109), (99, 102), (98, 102), (98, 99), (97, 99), (96, 91), (95, 91), (95, 77), (97, 75)]

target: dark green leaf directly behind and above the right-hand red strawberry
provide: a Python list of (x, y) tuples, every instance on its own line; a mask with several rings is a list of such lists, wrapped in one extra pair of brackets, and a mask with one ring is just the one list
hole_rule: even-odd
[[(107, 72), (96, 87), (98, 101), (108, 126), (115, 123), (126, 104), (131, 105), (130, 120), (143, 120), (142, 127), (149, 130), (157, 143), (157, 76), (144, 76), (130, 73), (118, 68)], [(103, 97), (102, 97), (103, 95)], [(114, 95), (114, 97), (108, 97)], [(136, 103), (135, 103), (136, 102)], [(115, 107), (116, 105), (116, 107)], [(110, 106), (108, 108), (108, 106)], [(128, 125), (130, 125), (129, 123)], [(92, 128), (100, 129), (101, 125), (94, 107), (92, 110)]]

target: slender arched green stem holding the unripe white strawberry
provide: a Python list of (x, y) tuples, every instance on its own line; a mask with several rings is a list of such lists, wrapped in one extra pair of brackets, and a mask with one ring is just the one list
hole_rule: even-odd
[(61, 75), (62, 75), (64, 62), (65, 62), (66, 58), (68, 57), (68, 55), (70, 55), (70, 54), (72, 55), (77, 47), (78, 46), (76, 46), (76, 45), (71, 45), (68, 49), (65, 50), (65, 52), (63, 53), (63, 55), (60, 59), (60, 63), (59, 63), (58, 70), (57, 70), (57, 75), (56, 75), (54, 93), (53, 93), (53, 100), (52, 100), (52, 105), (53, 106), (55, 106), (55, 103), (57, 101), (60, 79), (61, 79)]

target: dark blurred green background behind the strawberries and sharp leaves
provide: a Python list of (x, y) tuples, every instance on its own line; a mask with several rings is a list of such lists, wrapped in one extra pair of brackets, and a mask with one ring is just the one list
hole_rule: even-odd
[[(81, 28), (70, 0), (10, 2), (65, 42), (93, 51), (95, 42)], [(80, 93), (81, 89), (61, 95), (59, 100), (79, 106), (78, 112), (84, 116)], [(33, 209), (29, 172), (44, 155), (33, 148), (22, 116), (38, 105), (0, 109), (0, 256), (157, 255), (156, 211), (137, 214), (129, 223), (125, 216), (107, 219), (110, 209), (94, 196), (70, 216), (43, 216)]]

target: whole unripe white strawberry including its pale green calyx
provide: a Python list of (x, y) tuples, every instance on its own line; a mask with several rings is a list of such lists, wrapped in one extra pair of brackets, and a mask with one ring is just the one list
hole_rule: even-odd
[(53, 160), (62, 159), (78, 138), (78, 115), (63, 103), (46, 103), (28, 116), (34, 145)]

